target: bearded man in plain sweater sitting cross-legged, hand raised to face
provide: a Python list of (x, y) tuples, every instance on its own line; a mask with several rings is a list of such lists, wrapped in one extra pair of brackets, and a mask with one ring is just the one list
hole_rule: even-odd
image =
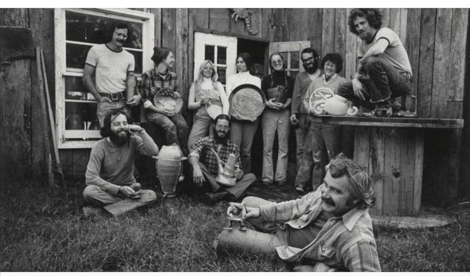
[[(87, 187), (83, 191), (85, 201), (95, 207), (119, 203), (119, 211), (129, 211), (154, 202), (157, 198), (154, 191), (137, 192), (130, 187), (136, 183), (133, 164), (137, 153), (148, 156), (158, 154), (158, 147), (152, 138), (142, 127), (129, 125), (126, 115), (120, 110), (106, 114), (101, 136), (104, 138), (96, 142), (88, 161), (85, 174)], [(93, 212), (91, 210), (85, 207), (84, 214), (87, 215), (85, 211)]]

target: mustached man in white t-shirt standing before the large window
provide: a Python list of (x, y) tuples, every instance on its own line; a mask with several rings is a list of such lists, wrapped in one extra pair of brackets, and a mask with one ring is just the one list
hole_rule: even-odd
[[(83, 71), (83, 83), (97, 101), (96, 115), (103, 127), (106, 113), (121, 109), (130, 115), (128, 106), (138, 105), (141, 97), (134, 95), (134, 56), (122, 46), (130, 37), (129, 27), (121, 22), (112, 24), (109, 42), (94, 45), (88, 52)], [(126, 101), (127, 99), (127, 101)]]

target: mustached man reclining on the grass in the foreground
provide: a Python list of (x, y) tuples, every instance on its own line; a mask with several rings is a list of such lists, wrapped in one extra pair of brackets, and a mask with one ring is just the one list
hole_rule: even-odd
[[(277, 255), (295, 271), (380, 271), (369, 208), (375, 204), (366, 170), (338, 154), (323, 184), (302, 198), (280, 203), (249, 196), (246, 232), (223, 230), (217, 253)], [(253, 230), (252, 230), (253, 229)]]

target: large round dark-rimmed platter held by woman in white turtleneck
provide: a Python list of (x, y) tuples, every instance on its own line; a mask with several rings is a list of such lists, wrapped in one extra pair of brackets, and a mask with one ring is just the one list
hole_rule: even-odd
[(255, 85), (238, 85), (229, 97), (230, 115), (238, 120), (254, 121), (263, 113), (266, 98)]

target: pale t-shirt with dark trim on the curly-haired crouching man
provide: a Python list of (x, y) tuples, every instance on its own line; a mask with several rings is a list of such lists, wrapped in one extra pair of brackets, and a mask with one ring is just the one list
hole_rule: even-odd
[(387, 49), (383, 52), (382, 57), (389, 61), (395, 68), (402, 72), (408, 72), (411, 75), (411, 64), (408, 59), (403, 44), (401, 44), (400, 38), (397, 34), (389, 28), (380, 28), (371, 43), (367, 44), (365, 41), (361, 41), (357, 49), (358, 57), (364, 56), (364, 54), (372, 47), (377, 40), (386, 39), (389, 42)]

